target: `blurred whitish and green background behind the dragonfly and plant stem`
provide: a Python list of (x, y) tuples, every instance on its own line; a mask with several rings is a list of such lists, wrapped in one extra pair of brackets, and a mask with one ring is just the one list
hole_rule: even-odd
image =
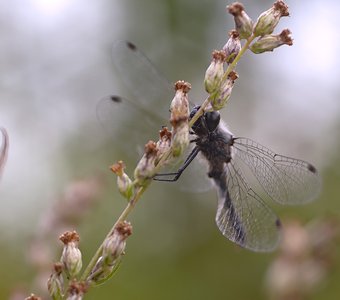
[[(86, 263), (125, 206), (108, 166), (123, 159), (132, 174), (136, 161), (121, 147), (131, 143), (129, 132), (116, 124), (125, 136), (117, 140), (96, 117), (103, 96), (129, 96), (113, 68), (112, 43), (134, 41), (170, 81), (191, 82), (192, 99), (199, 103), (205, 96), (202, 81), (210, 53), (224, 45), (233, 27), (226, 4), (1, 1), (0, 126), (10, 137), (0, 184), (1, 299), (20, 299), (21, 292), (43, 295), (39, 285), (46, 273), (40, 273), (46, 262), (58, 260), (62, 229), (79, 232)], [(243, 4), (256, 19), (272, 2)], [(298, 228), (291, 239), (295, 236), (293, 244), (301, 248), (288, 258), (291, 269), (277, 263), (285, 262), (284, 249), (251, 253), (220, 235), (214, 224), (214, 191), (188, 193), (156, 183), (129, 218), (134, 233), (121, 268), (87, 299), (285, 299), (280, 297), (292, 286), (279, 275), (294, 278), (291, 274), (297, 273), (297, 279), (315, 276), (306, 279), (306, 286), (299, 283), (296, 292), (292, 288), (303, 297), (296, 299), (339, 299), (340, 4), (288, 5), (291, 17), (281, 20), (278, 32), (289, 28), (294, 46), (247, 53), (223, 117), (235, 135), (313, 162), (322, 174), (317, 201), (273, 206), (287, 228)], [(138, 130), (143, 115), (130, 121)], [(144, 132), (145, 141), (155, 139), (157, 130)], [(69, 215), (63, 212), (66, 225), (60, 228), (56, 216), (63, 208)], [(311, 232), (325, 248), (319, 245), (322, 255), (311, 254), (317, 244), (307, 242)], [(329, 239), (318, 240), (327, 234)]]

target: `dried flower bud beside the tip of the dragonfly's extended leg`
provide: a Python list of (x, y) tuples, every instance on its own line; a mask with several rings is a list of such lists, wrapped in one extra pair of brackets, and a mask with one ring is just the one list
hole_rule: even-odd
[(155, 164), (158, 157), (157, 145), (149, 141), (144, 147), (144, 155), (137, 164), (134, 177), (139, 185), (145, 185), (155, 175)]

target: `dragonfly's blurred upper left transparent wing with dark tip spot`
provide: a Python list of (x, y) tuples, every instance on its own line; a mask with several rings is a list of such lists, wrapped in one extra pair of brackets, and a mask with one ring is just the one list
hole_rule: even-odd
[(169, 119), (174, 88), (136, 45), (117, 41), (112, 47), (112, 60), (129, 93), (131, 101), (144, 110)]

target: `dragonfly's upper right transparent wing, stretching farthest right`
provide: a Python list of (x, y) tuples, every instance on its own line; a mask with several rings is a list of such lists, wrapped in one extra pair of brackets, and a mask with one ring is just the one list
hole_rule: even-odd
[(234, 140), (236, 155), (248, 165), (266, 193), (280, 204), (302, 204), (319, 193), (321, 180), (313, 165), (274, 153), (247, 138)]

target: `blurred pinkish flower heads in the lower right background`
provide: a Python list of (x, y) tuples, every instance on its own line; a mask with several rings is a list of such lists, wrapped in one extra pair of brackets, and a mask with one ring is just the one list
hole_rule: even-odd
[(301, 225), (289, 221), (278, 256), (269, 266), (266, 289), (272, 300), (304, 300), (330, 275), (340, 240), (338, 218)]

